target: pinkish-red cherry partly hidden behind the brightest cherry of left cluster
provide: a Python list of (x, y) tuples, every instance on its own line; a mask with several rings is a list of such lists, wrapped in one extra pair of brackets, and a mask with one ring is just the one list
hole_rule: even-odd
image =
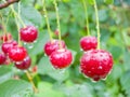
[(9, 53), (9, 50), (13, 46), (17, 46), (17, 42), (16, 41), (11, 41), (11, 42), (4, 42), (2, 43), (2, 51), (4, 54)]

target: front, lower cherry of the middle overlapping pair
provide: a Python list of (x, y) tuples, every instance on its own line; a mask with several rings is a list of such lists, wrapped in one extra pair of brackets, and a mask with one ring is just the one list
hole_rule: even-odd
[(65, 48), (57, 50), (50, 55), (50, 61), (55, 69), (63, 69), (72, 64), (72, 52)]

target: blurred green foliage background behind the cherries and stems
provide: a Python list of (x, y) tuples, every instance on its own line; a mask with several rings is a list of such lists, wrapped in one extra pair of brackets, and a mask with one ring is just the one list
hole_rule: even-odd
[[(87, 36), (86, 15), (82, 0), (58, 0), (62, 39), (73, 52), (74, 61), (65, 70), (55, 70), (43, 53), (43, 45), (49, 41), (44, 12), (41, 0), (21, 0), (21, 17), (26, 25), (39, 29), (36, 43), (25, 45), (38, 67), (31, 73), (39, 93), (34, 93), (24, 71), (13, 64), (0, 67), (0, 97), (130, 97), (130, 0), (96, 0), (101, 29), (101, 47), (109, 51), (114, 57), (112, 72), (104, 81), (93, 82), (79, 71), (82, 51), (79, 46), (81, 37)], [(0, 1), (2, 3), (2, 1)], [(95, 12), (92, 0), (86, 0), (90, 33), (96, 37)], [(53, 38), (57, 29), (53, 0), (46, 0), (48, 17)], [(17, 3), (14, 4), (17, 11)], [(9, 18), (6, 30), (17, 40), (14, 15), (9, 8), (0, 10), (4, 20)], [(22, 26), (21, 26), (22, 27)], [(3, 31), (0, 30), (2, 34)], [(29, 46), (34, 45), (32, 48)], [(14, 77), (21, 80), (15, 80)]]

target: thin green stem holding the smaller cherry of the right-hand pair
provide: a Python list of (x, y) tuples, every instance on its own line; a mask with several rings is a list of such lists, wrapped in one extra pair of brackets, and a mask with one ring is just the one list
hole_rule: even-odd
[(84, 9), (84, 14), (86, 14), (86, 27), (87, 27), (87, 34), (90, 36), (90, 30), (89, 30), (89, 18), (88, 18), (88, 11), (87, 11), (87, 3), (84, 0), (82, 0), (83, 3), (83, 9)]

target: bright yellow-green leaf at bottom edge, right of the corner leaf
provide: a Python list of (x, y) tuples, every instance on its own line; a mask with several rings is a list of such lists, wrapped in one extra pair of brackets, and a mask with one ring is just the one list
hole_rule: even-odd
[(60, 91), (55, 91), (53, 85), (48, 82), (42, 82), (38, 84), (39, 93), (36, 97), (65, 97)]

